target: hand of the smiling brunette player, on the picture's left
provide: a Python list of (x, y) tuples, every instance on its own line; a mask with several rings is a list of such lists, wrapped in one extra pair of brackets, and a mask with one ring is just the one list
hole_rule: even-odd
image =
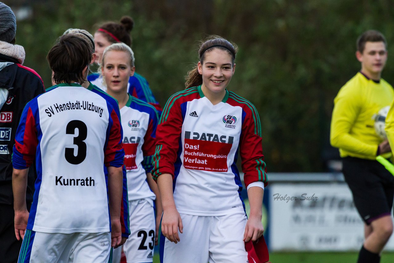
[(182, 219), (175, 206), (167, 207), (163, 211), (162, 219), (162, 233), (171, 242), (177, 244), (180, 239), (178, 235), (178, 228), (180, 233), (183, 233)]

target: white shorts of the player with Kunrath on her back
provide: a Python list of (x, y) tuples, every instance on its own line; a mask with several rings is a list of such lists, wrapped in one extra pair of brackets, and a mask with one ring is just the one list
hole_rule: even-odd
[(108, 262), (111, 233), (43, 233), (27, 229), (18, 263)]

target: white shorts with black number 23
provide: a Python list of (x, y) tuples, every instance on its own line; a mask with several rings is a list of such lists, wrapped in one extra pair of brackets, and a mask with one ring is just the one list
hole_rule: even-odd
[(153, 261), (156, 220), (151, 203), (152, 200), (146, 199), (128, 202), (131, 233), (123, 244), (127, 263)]

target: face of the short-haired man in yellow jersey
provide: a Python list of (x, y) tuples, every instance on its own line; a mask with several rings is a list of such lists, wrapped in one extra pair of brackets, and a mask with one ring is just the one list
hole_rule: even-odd
[(366, 42), (364, 51), (357, 51), (357, 59), (361, 62), (361, 71), (369, 78), (378, 80), (386, 65), (387, 50), (383, 42)]

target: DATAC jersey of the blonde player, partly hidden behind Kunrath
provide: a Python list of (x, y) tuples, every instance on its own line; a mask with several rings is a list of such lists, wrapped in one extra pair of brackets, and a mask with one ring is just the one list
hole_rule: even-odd
[(158, 123), (157, 112), (153, 106), (131, 95), (120, 112), (128, 199), (130, 201), (144, 198), (154, 200), (156, 196), (149, 188), (146, 173), (152, 170)]

